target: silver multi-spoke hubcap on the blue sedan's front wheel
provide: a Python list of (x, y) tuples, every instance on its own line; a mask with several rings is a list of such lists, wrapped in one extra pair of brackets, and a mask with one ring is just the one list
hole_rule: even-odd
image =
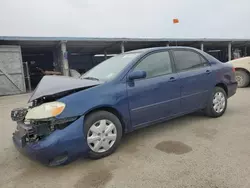
[(113, 146), (116, 137), (115, 125), (111, 121), (103, 119), (91, 125), (87, 134), (87, 143), (91, 150), (102, 153)]

